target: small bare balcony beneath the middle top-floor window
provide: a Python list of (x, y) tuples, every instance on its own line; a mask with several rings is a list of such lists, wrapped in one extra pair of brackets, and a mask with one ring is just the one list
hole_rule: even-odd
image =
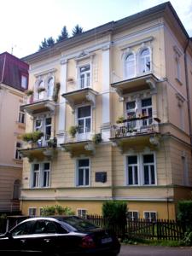
[(98, 93), (95, 90), (92, 90), (89, 87), (85, 87), (64, 93), (62, 96), (66, 99), (67, 104), (69, 104), (70, 107), (74, 110), (75, 106), (82, 104), (82, 102), (90, 103), (93, 108), (95, 108), (97, 94)]

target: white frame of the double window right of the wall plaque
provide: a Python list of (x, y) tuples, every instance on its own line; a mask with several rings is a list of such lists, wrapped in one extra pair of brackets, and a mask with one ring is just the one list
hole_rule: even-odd
[[(144, 184), (144, 166), (143, 166), (143, 155), (146, 154), (154, 154), (154, 184)], [(128, 157), (129, 156), (134, 156), (137, 155), (137, 171), (138, 171), (138, 184), (129, 184), (128, 180)], [(131, 154), (125, 154), (125, 186), (143, 186), (143, 187), (148, 187), (148, 186), (157, 186), (157, 164), (156, 164), (156, 154), (154, 151), (150, 151), (148, 153), (131, 153)]]

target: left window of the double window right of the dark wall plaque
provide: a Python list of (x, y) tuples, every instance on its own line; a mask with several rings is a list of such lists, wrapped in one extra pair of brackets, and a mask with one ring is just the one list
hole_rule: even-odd
[(137, 164), (137, 155), (131, 155), (127, 158), (128, 166), (128, 185), (137, 185), (138, 184), (138, 164)]

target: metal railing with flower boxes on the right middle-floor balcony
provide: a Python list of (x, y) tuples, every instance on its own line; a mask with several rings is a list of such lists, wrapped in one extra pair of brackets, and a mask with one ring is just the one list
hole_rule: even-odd
[(131, 137), (148, 132), (159, 132), (160, 119), (152, 117), (141, 117), (124, 119), (118, 125), (112, 125), (111, 137)]

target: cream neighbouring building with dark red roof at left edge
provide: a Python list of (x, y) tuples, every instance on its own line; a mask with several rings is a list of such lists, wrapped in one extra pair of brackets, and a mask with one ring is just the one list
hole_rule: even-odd
[(20, 105), (27, 87), (28, 64), (7, 52), (0, 54), (0, 214), (20, 211), (19, 137), (26, 129)]

